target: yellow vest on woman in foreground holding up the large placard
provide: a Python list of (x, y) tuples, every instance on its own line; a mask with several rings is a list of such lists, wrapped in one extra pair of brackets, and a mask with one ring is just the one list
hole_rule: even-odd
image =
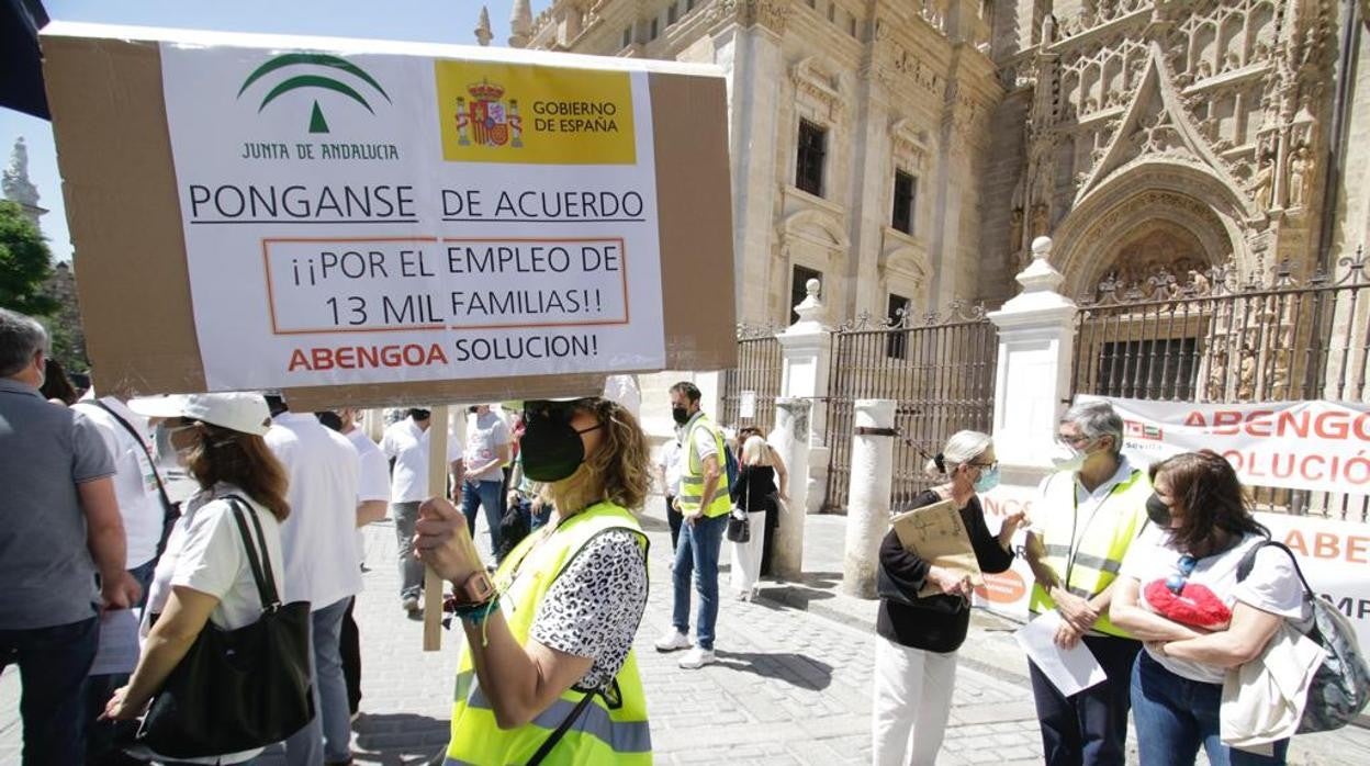
[[(611, 529), (626, 529), (643, 539), (647, 536), (633, 514), (612, 503), (599, 503), (563, 521), (551, 539), (533, 551), (541, 537), (530, 534), (519, 543), (499, 571), (495, 586), (503, 593), (500, 610), (510, 632), (519, 645), (525, 645), (533, 629), (537, 607), (556, 577), (577, 554), (597, 534)], [(527, 560), (525, 560), (527, 559)], [(471, 648), (462, 651), (458, 663), (456, 692), (452, 702), (452, 739), (447, 747), (445, 766), (508, 766), (527, 763), (547, 737), (562, 725), (584, 699), (585, 692), (567, 689), (533, 721), (515, 729), (500, 729), (495, 708), (481, 689), (471, 659)], [(647, 700), (643, 678), (637, 670), (636, 651), (627, 659), (607, 691), (597, 692), (581, 711), (575, 724), (543, 761), (547, 766), (593, 766), (652, 763), (652, 736), (647, 721)]]

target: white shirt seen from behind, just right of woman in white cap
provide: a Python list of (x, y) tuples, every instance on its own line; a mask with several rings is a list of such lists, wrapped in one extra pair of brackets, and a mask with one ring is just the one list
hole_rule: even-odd
[(277, 415), (266, 443), (290, 477), (290, 515), (281, 525), (286, 602), (310, 602), (311, 610), (321, 610), (360, 593), (356, 448), (314, 415), (299, 412)]

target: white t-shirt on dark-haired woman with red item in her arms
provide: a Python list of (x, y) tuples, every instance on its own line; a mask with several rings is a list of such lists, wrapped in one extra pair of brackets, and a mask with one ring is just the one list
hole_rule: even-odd
[[(1164, 581), (1171, 574), (1180, 574), (1178, 549), (1170, 545), (1170, 534), (1155, 525), (1148, 525), (1147, 530), (1128, 548), (1128, 555), (1122, 560), (1119, 577), (1130, 577), (1141, 586), (1138, 603), (1143, 608), (1155, 613), (1147, 603), (1147, 585), (1156, 580)], [(1254, 545), (1265, 540), (1259, 534), (1248, 534), (1237, 545), (1226, 551), (1199, 559), (1193, 571), (1185, 580), (1188, 584), (1199, 584), (1208, 588), (1229, 610), (1237, 602), (1286, 617), (1295, 621), (1299, 629), (1306, 628), (1308, 614), (1303, 602), (1303, 584), (1295, 573), (1293, 560), (1289, 554), (1278, 548), (1263, 548), (1256, 554), (1256, 560), (1251, 567), (1251, 574), (1237, 582), (1237, 565)], [(1151, 658), (1163, 665), (1171, 673), (1200, 681), (1204, 684), (1222, 684), (1226, 676), (1225, 667), (1162, 656), (1147, 650)]]

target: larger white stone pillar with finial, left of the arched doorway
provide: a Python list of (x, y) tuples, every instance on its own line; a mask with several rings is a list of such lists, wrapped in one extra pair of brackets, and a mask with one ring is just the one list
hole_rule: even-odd
[(1070, 399), (1075, 303), (1056, 292), (1064, 277), (1051, 264), (1051, 238), (1033, 240), (1032, 255), (1018, 274), (1022, 292), (989, 314), (999, 328), (993, 437), (1006, 485), (1036, 485), (1051, 470), (1056, 419)]

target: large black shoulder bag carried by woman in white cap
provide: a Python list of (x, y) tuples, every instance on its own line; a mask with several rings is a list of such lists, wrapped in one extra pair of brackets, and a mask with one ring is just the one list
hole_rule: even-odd
[[(159, 755), (199, 758), (264, 747), (314, 717), (310, 603), (281, 604), (262, 522), (241, 497), (225, 499), (262, 596), (262, 617), (236, 630), (212, 622), (200, 630), (138, 729), (137, 743)], [(247, 517), (256, 528), (256, 545)]]

